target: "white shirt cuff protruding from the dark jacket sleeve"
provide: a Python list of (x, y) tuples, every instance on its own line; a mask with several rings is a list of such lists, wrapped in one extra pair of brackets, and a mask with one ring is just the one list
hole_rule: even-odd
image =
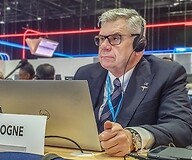
[(142, 140), (141, 150), (150, 149), (153, 146), (155, 142), (155, 138), (151, 132), (149, 132), (148, 130), (142, 127), (127, 127), (127, 129), (129, 128), (135, 130), (141, 136), (141, 140)]

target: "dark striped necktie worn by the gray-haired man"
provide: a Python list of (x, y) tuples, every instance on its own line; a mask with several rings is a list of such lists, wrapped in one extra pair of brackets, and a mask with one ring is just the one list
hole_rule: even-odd
[[(113, 85), (114, 85), (115, 89), (114, 89), (113, 93), (111, 94), (111, 102), (112, 102), (112, 106), (114, 108), (114, 113), (116, 113), (118, 105), (122, 98), (121, 82), (120, 82), (119, 78), (116, 78), (113, 81)], [(109, 109), (108, 101), (106, 102), (106, 104), (103, 108), (103, 112), (100, 117), (100, 122), (103, 124), (106, 120), (113, 121), (113, 117), (112, 117), (111, 111)]]

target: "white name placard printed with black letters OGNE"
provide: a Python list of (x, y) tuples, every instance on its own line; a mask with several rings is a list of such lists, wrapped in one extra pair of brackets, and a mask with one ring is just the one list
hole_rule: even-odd
[(44, 154), (46, 116), (0, 114), (0, 151)]

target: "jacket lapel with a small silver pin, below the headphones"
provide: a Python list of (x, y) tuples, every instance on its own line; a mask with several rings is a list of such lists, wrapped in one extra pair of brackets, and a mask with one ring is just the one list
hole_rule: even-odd
[(153, 77), (149, 62), (142, 58), (130, 78), (124, 93), (122, 108), (117, 117), (117, 122), (123, 127), (129, 124), (137, 107), (148, 92)]

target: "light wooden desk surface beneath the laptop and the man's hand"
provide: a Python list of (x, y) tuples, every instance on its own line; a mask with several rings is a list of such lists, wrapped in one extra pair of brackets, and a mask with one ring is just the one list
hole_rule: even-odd
[[(81, 154), (79, 150), (66, 149), (58, 147), (45, 147), (45, 154), (55, 153), (63, 158), (68, 158), (72, 160), (124, 160), (123, 157), (110, 157), (105, 152), (92, 152), (85, 151), (86, 154)], [(127, 158), (127, 160), (135, 160), (132, 157)]]

